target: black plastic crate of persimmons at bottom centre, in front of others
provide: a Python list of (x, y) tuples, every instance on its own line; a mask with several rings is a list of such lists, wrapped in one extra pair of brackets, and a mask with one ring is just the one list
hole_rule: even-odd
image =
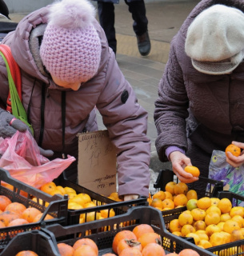
[(201, 256), (214, 255), (210, 251), (203, 250), (184, 238), (170, 234), (165, 228), (161, 211), (151, 206), (134, 206), (126, 214), (106, 218), (94, 222), (86, 222), (73, 226), (61, 226), (54, 224), (42, 228), (43, 232), (50, 234), (54, 244), (65, 242), (74, 245), (80, 238), (90, 238), (96, 242), (99, 255), (112, 253), (112, 243), (115, 234), (121, 230), (133, 230), (138, 224), (149, 224), (154, 231), (162, 237), (162, 247), (166, 252), (176, 252), (190, 248), (196, 250)]

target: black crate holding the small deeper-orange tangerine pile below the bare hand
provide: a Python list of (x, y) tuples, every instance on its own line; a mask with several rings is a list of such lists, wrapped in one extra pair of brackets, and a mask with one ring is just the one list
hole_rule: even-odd
[[(154, 184), (154, 188), (156, 190), (165, 191), (166, 184), (168, 182), (178, 183), (180, 181), (178, 180), (177, 176), (174, 174), (173, 170), (160, 170), (158, 173), (157, 181)], [(199, 189), (199, 187), (202, 188), (202, 186), (196, 186), (194, 185), (194, 182), (190, 183), (190, 186), (191, 186), (190, 190), (196, 190), (198, 193), (198, 198), (203, 198), (203, 197), (215, 198), (218, 196), (218, 192), (223, 190), (223, 182), (218, 182), (214, 179), (205, 178), (201, 176), (199, 176), (199, 182), (201, 183), (202, 186), (206, 187), (205, 191), (202, 191), (201, 189)], [(178, 216), (184, 210), (186, 210), (186, 206), (175, 208), (172, 210), (163, 210), (162, 216), (163, 217), (171, 216), (171, 215)]]

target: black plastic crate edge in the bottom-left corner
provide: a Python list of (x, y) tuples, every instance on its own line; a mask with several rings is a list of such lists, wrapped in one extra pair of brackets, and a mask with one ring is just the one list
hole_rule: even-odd
[(50, 235), (40, 230), (32, 230), (16, 235), (0, 256), (14, 256), (22, 250), (32, 250), (38, 256), (60, 256)]

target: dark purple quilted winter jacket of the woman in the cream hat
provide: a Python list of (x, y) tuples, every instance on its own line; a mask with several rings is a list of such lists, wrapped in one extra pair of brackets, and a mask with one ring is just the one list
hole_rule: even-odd
[(193, 164), (206, 170), (205, 176), (213, 150), (225, 150), (232, 140), (244, 142), (244, 63), (231, 74), (202, 74), (185, 52), (190, 23), (215, 4), (244, 12), (243, 0), (202, 0), (194, 7), (172, 39), (154, 110), (160, 160), (168, 161), (168, 146), (178, 146)]

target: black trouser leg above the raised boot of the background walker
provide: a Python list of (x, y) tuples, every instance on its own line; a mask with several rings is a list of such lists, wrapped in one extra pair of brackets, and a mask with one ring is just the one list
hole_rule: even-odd
[(148, 20), (146, 18), (146, 6), (144, 0), (128, 2), (125, 0), (126, 5), (129, 6), (130, 14), (134, 20), (133, 30), (137, 35), (142, 35), (147, 31)]

